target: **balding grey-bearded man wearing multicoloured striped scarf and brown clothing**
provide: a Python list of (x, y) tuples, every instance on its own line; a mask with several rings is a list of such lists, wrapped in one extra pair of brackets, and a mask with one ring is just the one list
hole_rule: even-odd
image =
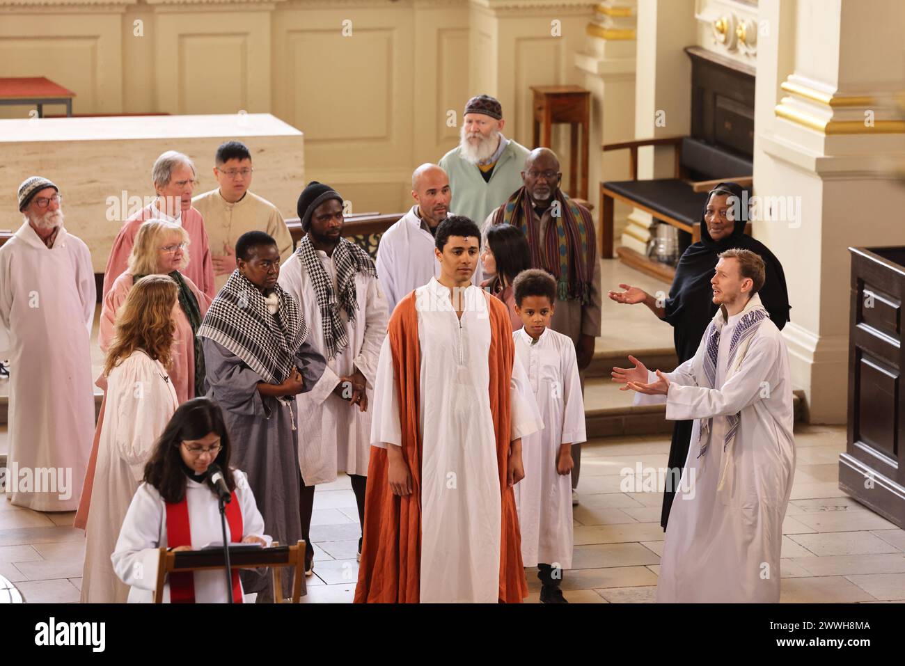
[[(484, 221), (512, 224), (521, 229), (531, 248), (531, 267), (550, 273), (557, 281), (557, 302), (550, 328), (572, 339), (579, 372), (591, 364), (594, 341), (600, 335), (600, 262), (594, 221), (587, 209), (560, 188), (562, 173), (556, 153), (535, 148), (521, 172), (524, 186)], [(582, 390), (585, 380), (582, 374)], [(572, 447), (575, 466), (572, 488), (581, 471), (581, 444)], [(576, 504), (573, 494), (573, 504)]]

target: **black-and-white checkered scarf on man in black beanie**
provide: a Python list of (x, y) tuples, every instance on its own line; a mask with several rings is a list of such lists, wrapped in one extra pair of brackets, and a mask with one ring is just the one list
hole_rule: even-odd
[(299, 258), (308, 271), (311, 285), (318, 298), (320, 319), (324, 328), (324, 343), (327, 349), (327, 359), (336, 357), (348, 347), (348, 335), (346, 324), (339, 315), (339, 309), (346, 312), (349, 324), (355, 324), (358, 311), (356, 296), (355, 276), (357, 273), (365, 273), (377, 277), (374, 260), (355, 243), (340, 238), (333, 250), (332, 259), (337, 269), (337, 287), (333, 289), (333, 281), (320, 262), (318, 252), (311, 244), (308, 234), (301, 239), (296, 250)]

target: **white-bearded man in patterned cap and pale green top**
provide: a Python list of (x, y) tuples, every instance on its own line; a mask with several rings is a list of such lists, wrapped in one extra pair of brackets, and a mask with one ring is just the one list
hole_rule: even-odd
[(522, 186), (529, 150), (502, 135), (505, 123), (498, 100), (472, 97), (462, 116), (459, 146), (440, 160), (452, 187), (450, 210), (478, 224)]

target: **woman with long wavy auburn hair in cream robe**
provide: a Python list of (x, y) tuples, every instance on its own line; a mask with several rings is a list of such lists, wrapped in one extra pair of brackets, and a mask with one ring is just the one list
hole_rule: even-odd
[(129, 290), (104, 365), (107, 397), (86, 526), (82, 603), (125, 603), (129, 587), (110, 563), (119, 527), (157, 436), (176, 412), (168, 374), (178, 287), (167, 275), (148, 275)]

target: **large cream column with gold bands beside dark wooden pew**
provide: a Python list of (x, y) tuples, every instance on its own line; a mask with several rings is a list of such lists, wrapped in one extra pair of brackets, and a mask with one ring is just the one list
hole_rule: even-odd
[(808, 420), (844, 423), (849, 246), (905, 244), (899, 0), (761, 0), (754, 234), (786, 271), (783, 334)]

